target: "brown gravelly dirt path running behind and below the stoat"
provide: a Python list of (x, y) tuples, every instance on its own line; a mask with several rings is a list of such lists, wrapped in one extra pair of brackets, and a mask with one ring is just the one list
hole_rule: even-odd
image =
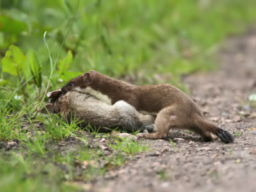
[(184, 83), (207, 118), (233, 132), (234, 143), (170, 131), (174, 143), (145, 140), (153, 150), (96, 180), (93, 191), (256, 191), (256, 109), (247, 99), (256, 93), (256, 29), (226, 45), (219, 71)]

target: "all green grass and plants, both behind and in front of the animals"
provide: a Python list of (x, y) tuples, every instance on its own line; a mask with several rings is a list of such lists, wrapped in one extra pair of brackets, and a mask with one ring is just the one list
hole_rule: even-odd
[[(19, 140), (11, 152), (0, 148), (1, 191), (82, 190), (70, 184), (90, 182), (148, 150), (88, 126), (95, 139), (107, 139), (106, 156), (90, 146), (79, 120), (67, 124), (58, 115), (36, 113), (48, 87), (98, 70), (136, 84), (183, 88), (183, 75), (218, 67), (214, 56), (223, 39), (256, 21), (253, 5), (254, 0), (89, 0), (77, 8), (77, 1), (0, 1), (0, 146)], [(71, 137), (77, 140), (74, 150), (56, 150)]]

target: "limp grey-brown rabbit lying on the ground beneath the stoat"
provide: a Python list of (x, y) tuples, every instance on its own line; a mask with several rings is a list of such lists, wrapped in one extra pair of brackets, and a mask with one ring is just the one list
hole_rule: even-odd
[[(127, 131), (152, 131), (155, 117), (142, 115), (136, 109), (119, 100), (111, 105), (92, 95), (80, 92), (67, 92), (54, 102), (45, 105), (50, 113), (60, 113), (65, 120), (70, 120), (71, 114), (84, 120), (83, 126), (88, 124), (100, 127), (124, 127)], [(41, 110), (43, 113), (44, 109)]]

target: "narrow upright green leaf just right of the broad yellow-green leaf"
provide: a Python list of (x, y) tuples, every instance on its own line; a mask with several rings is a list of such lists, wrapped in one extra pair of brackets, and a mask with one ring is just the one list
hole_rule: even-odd
[(42, 68), (38, 61), (38, 58), (36, 57), (36, 54), (32, 49), (28, 51), (27, 56), (29, 58), (29, 67), (30, 67), (31, 74), (33, 76), (33, 80), (35, 81), (35, 84), (37, 87), (41, 87), (42, 86), (42, 72), (41, 72)]

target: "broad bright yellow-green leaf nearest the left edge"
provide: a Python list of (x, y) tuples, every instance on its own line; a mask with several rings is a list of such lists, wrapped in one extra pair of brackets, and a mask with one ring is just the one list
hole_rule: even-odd
[(1, 61), (2, 70), (13, 76), (21, 76), (25, 61), (26, 56), (20, 51), (19, 47), (11, 45)]

